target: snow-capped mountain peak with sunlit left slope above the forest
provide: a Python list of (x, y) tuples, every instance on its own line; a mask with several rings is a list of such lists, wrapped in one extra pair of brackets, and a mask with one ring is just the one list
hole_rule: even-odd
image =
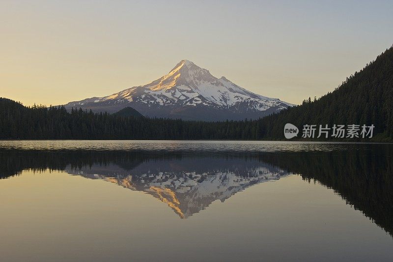
[(225, 77), (216, 78), (189, 60), (181, 60), (150, 84), (65, 105), (109, 113), (128, 106), (143, 116), (225, 120), (258, 118), (293, 105), (250, 92)]

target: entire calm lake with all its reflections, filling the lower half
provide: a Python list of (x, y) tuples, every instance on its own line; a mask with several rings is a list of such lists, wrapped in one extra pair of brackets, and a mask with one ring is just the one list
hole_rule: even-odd
[(0, 141), (1, 261), (393, 261), (393, 145)]

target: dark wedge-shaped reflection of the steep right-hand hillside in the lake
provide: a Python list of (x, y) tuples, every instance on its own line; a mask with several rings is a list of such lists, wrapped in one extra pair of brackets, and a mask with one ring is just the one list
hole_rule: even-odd
[(332, 188), (393, 235), (393, 147), (264, 155), (263, 161)]

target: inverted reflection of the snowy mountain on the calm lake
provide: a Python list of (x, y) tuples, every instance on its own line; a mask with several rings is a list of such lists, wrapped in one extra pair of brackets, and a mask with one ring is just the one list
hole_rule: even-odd
[(121, 166), (67, 166), (69, 174), (104, 179), (131, 190), (148, 193), (167, 203), (181, 218), (205, 209), (215, 200), (228, 199), (245, 188), (287, 175), (281, 169), (249, 161), (228, 161), (207, 157), (184, 160), (148, 161), (132, 170)]

